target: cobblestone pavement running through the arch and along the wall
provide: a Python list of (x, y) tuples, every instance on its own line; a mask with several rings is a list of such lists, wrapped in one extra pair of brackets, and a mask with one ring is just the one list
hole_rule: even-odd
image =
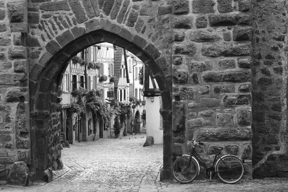
[(217, 176), (211, 181), (195, 180), (189, 184), (160, 182), (163, 145), (143, 147), (145, 139), (145, 134), (137, 134), (77, 143), (62, 151), (65, 165), (62, 170), (53, 171), (52, 182), (37, 181), (31, 187), (0, 185), (0, 192), (288, 191), (286, 178), (242, 179), (236, 184), (222, 183)]

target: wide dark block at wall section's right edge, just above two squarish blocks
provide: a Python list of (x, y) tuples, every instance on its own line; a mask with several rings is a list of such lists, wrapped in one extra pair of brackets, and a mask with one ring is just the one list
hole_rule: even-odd
[(250, 105), (251, 104), (251, 95), (226, 95), (223, 97), (224, 107), (237, 107), (239, 105)]

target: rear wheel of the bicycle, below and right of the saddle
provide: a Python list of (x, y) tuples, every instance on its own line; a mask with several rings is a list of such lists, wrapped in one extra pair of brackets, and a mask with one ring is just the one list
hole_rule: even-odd
[(244, 165), (242, 161), (232, 155), (221, 157), (216, 164), (216, 172), (219, 178), (225, 183), (236, 183), (244, 174)]

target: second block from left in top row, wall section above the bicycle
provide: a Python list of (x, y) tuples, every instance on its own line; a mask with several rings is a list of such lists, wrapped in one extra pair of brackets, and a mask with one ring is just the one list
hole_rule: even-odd
[(215, 13), (215, 1), (213, 0), (194, 0), (192, 1), (193, 13)]

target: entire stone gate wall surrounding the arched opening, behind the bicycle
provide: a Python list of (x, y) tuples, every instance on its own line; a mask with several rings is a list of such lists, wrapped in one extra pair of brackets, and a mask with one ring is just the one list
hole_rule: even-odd
[(246, 177), (287, 176), (286, 36), (284, 0), (2, 0), (0, 178), (17, 161), (32, 181), (62, 167), (58, 83), (102, 41), (137, 55), (160, 85), (161, 180), (193, 138), (207, 163), (219, 146)]

